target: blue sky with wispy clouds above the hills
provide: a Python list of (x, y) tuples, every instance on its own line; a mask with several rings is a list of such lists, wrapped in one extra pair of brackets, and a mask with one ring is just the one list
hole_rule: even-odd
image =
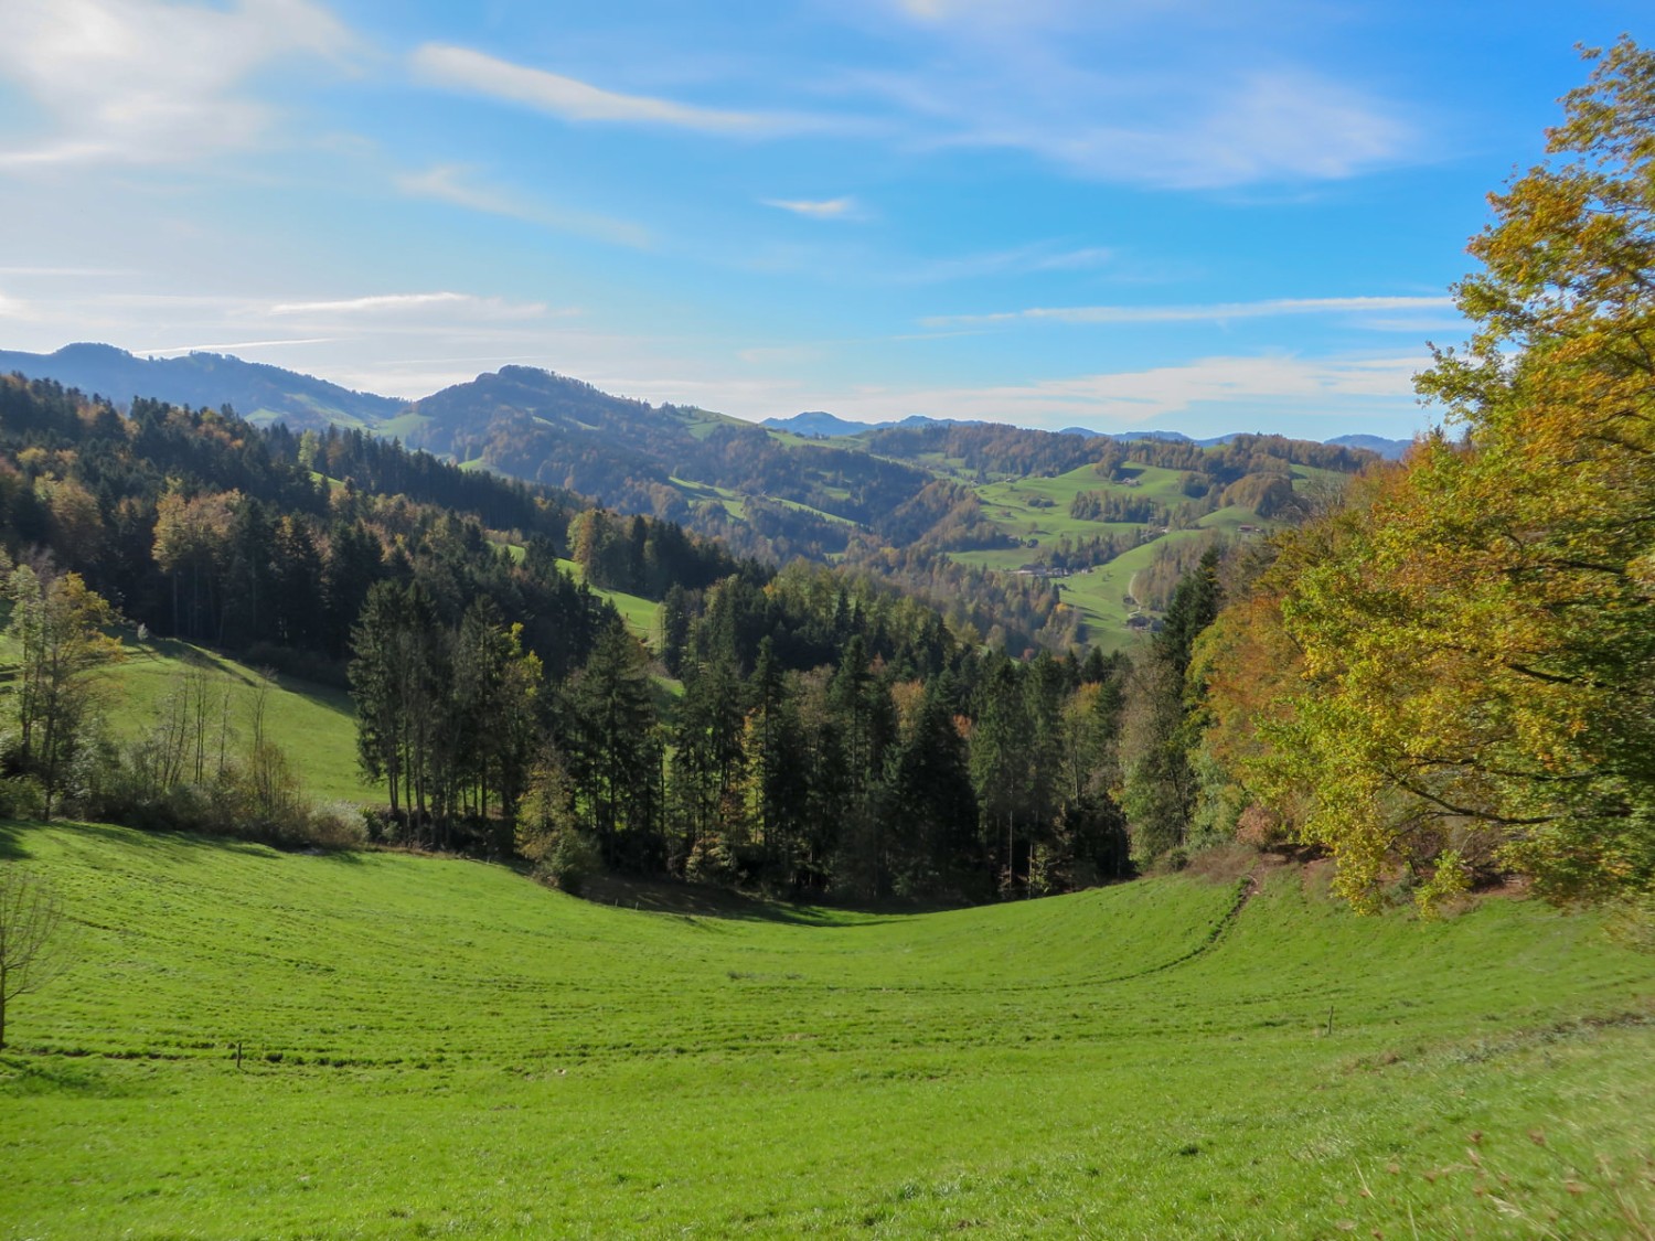
[(0, 347), (1405, 437), (1645, 3), (3, 0)]

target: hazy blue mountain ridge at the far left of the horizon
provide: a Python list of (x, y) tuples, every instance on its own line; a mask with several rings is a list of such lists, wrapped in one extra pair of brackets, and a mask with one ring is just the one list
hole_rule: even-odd
[(248, 422), (286, 422), (295, 430), (329, 424), (371, 429), (407, 404), (227, 354), (136, 357), (111, 344), (66, 344), (51, 354), (0, 351), (0, 374), (13, 371), (122, 405), (132, 397), (192, 409), (232, 405)]

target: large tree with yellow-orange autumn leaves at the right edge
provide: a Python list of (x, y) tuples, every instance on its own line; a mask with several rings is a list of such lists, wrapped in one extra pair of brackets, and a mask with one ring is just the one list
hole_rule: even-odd
[(1463, 440), (1284, 541), (1274, 597), (1210, 640), (1231, 748), (1241, 664), (1299, 654), (1240, 766), (1301, 801), (1359, 905), (1398, 864), (1428, 898), (1480, 867), (1557, 898), (1655, 885), (1655, 55), (1587, 56), (1552, 159), (1471, 242), (1470, 344), (1418, 381)]

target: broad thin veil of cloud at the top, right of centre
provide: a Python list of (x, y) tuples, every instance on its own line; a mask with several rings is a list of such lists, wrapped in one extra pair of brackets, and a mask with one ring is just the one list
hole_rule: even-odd
[(882, 7), (907, 18), (912, 65), (851, 88), (907, 114), (920, 147), (1003, 147), (1091, 180), (1216, 190), (1341, 180), (1428, 142), (1408, 106), (1284, 56), (1274, 22), (1248, 20), (1246, 5)]

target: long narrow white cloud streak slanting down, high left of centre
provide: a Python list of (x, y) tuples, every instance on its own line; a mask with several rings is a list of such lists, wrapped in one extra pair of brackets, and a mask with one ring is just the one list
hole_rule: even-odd
[(703, 134), (775, 136), (824, 127), (823, 121), (775, 113), (698, 108), (645, 94), (621, 94), (531, 69), (470, 48), (425, 43), (414, 51), (414, 71), (425, 81), (535, 108), (576, 122), (611, 122), (693, 129)]

